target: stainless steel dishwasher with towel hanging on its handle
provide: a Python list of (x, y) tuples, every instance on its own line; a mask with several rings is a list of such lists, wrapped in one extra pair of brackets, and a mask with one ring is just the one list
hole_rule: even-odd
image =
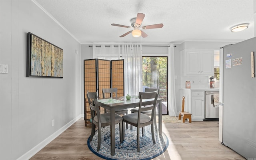
[[(219, 91), (205, 92), (205, 114), (204, 120), (219, 120)], [(215, 104), (214, 104), (215, 103)]]

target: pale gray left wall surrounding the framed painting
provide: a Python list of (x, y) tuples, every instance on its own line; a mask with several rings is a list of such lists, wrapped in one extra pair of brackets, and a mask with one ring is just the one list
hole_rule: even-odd
[[(80, 44), (31, 0), (1, 0), (0, 20), (0, 159), (15, 160), (81, 116)], [(64, 50), (63, 79), (26, 77), (27, 32)]]

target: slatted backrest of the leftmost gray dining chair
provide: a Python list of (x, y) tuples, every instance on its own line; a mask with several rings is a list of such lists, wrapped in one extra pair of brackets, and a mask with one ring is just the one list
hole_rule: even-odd
[[(96, 115), (100, 115), (100, 108), (98, 106), (98, 101), (97, 101), (97, 92), (88, 92), (87, 91), (87, 99), (90, 104), (90, 109), (91, 109), (91, 116), (92, 120), (94, 120), (94, 117)], [(93, 102), (92, 102), (93, 100)], [(100, 122), (100, 116), (98, 116), (98, 122)]]

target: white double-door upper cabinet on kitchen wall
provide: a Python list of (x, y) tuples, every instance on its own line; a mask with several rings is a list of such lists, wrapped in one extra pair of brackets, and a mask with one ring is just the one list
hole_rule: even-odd
[(214, 75), (214, 50), (186, 50), (186, 75)]

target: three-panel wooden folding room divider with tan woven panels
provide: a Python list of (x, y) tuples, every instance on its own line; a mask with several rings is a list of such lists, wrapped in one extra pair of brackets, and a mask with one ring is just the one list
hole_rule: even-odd
[[(91, 112), (86, 92), (98, 92), (103, 98), (102, 88), (118, 88), (117, 96), (124, 96), (124, 60), (84, 60), (84, 120), (91, 124)], [(106, 95), (110, 96), (110, 95)], [(104, 112), (104, 108), (100, 108)]]

